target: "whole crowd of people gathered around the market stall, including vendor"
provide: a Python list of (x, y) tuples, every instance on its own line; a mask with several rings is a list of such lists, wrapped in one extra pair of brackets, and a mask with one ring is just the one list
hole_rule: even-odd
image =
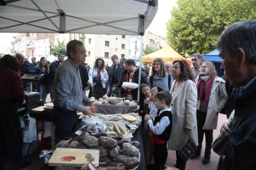
[(25, 103), (25, 86), (20, 76), (25, 74), (25, 68), (36, 67), (46, 76), (35, 84), (35, 91), (40, 92), (44, 101), (49, 91), (54, 103), (56, 139), (74, 131), (77, 111), (95, 116), (95, 107), (85, 95), (85, 87), (90, 86), (89, 97), (95, 99), (108, 94), (137, 100), (138, 89), (122, 87), (122, 83), (139, 84), (140, 77), (138, 103), (147, 165), (153, 161), (155, 169), (164, 169), (168, 150), (174, 150), (177, 161), (173, 166), (186, 169), (187, 160), (182, 158), (181, 150), (193, 140), (197, 150), (189, 157), (192, 160), (200, 157), (204, 136), (206, 148), (202, 163), (209, 164), (213, 130), (218, 124), (218, 114), (225, 110), (229, 119), (221, 126), (220, 135), (228, 139), (229, 147), (220, 156), (218, 168), (254, 169), (256, 22), (233, 23), (221, 33), (216, 48), (223, 59), (220, 69), (225, 71), (225, 79), (218, 77), (215, 65), (205, 61), (201, 54), (192, 55), (192, 68), (186, 60), (164, 64), (161, 58), (156, 58), (151, 69), (151, 65), (142, 68), (140, 76), (140, 67), (134, 60), (119, 61), (117, 55), (111, 57), (111, 67), (98, 58), (88, 70), (83, 65), (87, 57), (85, 46), (77, 40), (67, 44), (66, 60), (64, 54), (59, 54), (58, 60), (50, 65), (46, 57), (41, 57), (36, 65), (34, 58), (29, 63), (22, 54), (4, 55), (0, 59), (0, 78), (6, 79), (0, 84), (0, 155), (5, 144), (8, 154), (14, 155), (15, 168), (31, 166), (21, 159), (23, 142), (16, 103)]

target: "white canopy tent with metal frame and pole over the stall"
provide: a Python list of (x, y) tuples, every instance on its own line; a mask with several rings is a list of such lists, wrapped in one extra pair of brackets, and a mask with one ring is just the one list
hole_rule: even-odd
[(158, 0), (0, 0), (0, 32), (127, 34), (143, 42), (157, 10)]

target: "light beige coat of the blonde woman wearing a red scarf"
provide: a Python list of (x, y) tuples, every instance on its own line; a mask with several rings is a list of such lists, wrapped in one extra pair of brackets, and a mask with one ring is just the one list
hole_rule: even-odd
[[(197, 84), (199, 76), (195, 79)], [(225, 88), (225, 81), (222, 78), (215, 77), (213, 85), (211, 86), (211, 94), (208, 103), (207, 118), (203, 129), (212, 130), (217, 128), (218, 115), (221, 109), (228, 101), (228, 95)], [(200, 108), (201, 100), (197, 102), (197, 110)]]

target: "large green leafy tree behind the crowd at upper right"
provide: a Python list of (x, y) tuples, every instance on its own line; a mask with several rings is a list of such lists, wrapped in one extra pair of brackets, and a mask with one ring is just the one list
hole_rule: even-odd
[(179, 0), (166, 23), (168, 44), (181, 55), (207, 54), (231, 23), (255, 20), (255, 0)]

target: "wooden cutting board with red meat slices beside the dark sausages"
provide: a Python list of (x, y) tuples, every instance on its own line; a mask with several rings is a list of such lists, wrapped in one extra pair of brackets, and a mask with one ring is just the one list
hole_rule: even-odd
[[(88, 159), (85, 158), (87, 153), (92, 154), (95, 160), (92, 161), (92, 164), (99, 164), (100, 159), (100, 150), (92, 149), (77, 149), (77, 148), (56, 148), (53, 155), (51, 156), (48, 166), (62, 166), (62, 165), (71, 165), (74, 167), (82, 167), (84, 164), (88, 163)], [(75, 156), (75, 160), (72, 161), (62, 161), (61, 158), (64, 156)]]

